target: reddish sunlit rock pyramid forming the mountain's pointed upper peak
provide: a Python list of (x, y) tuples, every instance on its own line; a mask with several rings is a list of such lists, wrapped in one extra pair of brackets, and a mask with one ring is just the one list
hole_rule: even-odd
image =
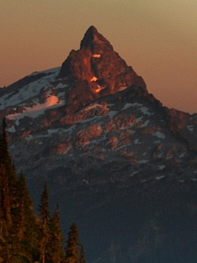
[[(67, 112), (75, 112), (93, 99), (115, 94), (126, 87), (136, 85), (146, 90), (144, 80), (132, 67), (120, 58), (113, 46), (95, 27), (89, 27), (80, 44), (80, 50), (72, 50), (61, 67), (58, 78), (68, 78), (75, 83), (68, 94)], [(84, 98), (81, 86), (86, 87)], [(80, 95), (80, 96), (79, 96)], [(82, 95), (82, 96), (81, 96)], [(75, 97), (78, 104), (73, 106)]]

